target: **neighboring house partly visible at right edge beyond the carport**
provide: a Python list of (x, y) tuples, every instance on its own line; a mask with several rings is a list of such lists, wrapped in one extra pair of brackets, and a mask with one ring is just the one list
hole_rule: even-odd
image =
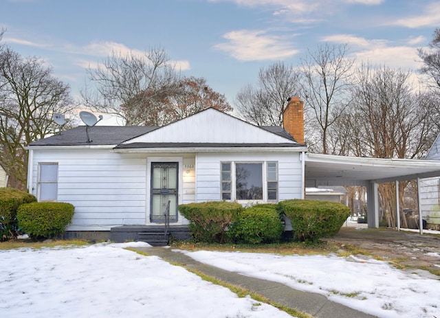
[[(440, 160), (440, 135), (432, 144), (427, 160)], [(440, 177), (420, 179), (420, 206), (426, 228), (440, 230)]]

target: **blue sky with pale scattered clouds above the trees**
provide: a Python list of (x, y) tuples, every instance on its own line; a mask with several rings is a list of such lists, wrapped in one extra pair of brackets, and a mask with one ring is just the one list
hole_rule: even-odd
[(324, 43), (360, 63), (416, 70), (440, 27), (438, 0), (0, 0), (3, 43), (43, 58), (78, 95), (88, 65), (112, 50), (162, 47), (186, 76), (232, 104), (261, 67), (297, 66)]

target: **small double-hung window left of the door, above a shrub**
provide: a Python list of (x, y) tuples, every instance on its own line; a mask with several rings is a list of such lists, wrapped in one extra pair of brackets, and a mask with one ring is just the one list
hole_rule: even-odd
[(38, 175), (39, 201), (56, 201), (58, 196), (58, 163), (40, 163)]

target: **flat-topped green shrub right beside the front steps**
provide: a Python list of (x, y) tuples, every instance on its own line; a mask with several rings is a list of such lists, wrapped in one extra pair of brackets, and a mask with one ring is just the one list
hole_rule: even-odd
[(224, 242), (226, 229), (242, 209), (239, 203), (225, 201), (179, 205), (179, 212), (190, 221), (188, 227), (197, 242)]

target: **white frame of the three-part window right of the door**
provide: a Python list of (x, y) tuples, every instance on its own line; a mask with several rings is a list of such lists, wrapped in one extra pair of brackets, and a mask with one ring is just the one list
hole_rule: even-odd
[[(222, 176), (222, 165), (223, 163), (230, 163), (231, 168), (230, 168), (230, 183), (231, 183), (231, 188), (230, 188), (230, 199), (223, 199), (223, 193), (225, 193), (225, 191), (223, 190), (223, 176)], [(236, 163), (259, 163), (261, 164), (261, 177), (262, 177), (262, 183), (263, 183), (263, 198), (262, 199), (256, 199), (256, 200), (237, 200), (236, 199)], [(276, 163), (276, 180), (268, 180), (267, 179), (267, 163)], [(249, 203), (253, 203), (253, 204), (257, 204), (257, 203), (265, 203), (265, 202), (278, 202), (278, 161), (221, 161), (220, 162), (220, 199), (224, 200), (224, 201), (236, 201), (238, 203), (241, 204), (249, 204)], [(267, 193), (267, 183), (268, 182), (276, 182), (277, 183), (277, 187), (276, 187), (276, 199), (268, 199), (268, 193)]]

